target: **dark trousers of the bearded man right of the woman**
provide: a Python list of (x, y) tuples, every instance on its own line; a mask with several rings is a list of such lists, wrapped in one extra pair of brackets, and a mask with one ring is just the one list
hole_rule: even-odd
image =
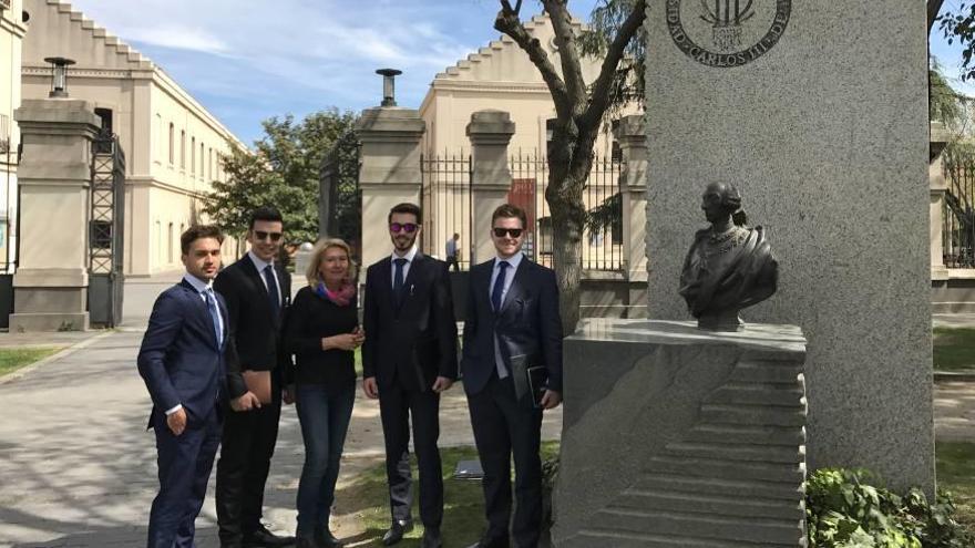
[(386, 438), (386, 476), (392, 519), (412, 519), (410, 418), (420, 473), (420, 519), (427, 528), (443, 521), (443, 473), (440, 465), (440, 394), (402, 389), (393, 382), (379, 389), (379, 413)]

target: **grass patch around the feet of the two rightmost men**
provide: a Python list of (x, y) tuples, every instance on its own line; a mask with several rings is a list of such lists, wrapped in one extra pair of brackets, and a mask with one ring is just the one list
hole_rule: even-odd
[[(542, 461), (558, 454), (557, 442), (542, 444)], [(443, 462), (443, 539), (445, 546), (468, 546), (478, 541), (484, 530), (484, 499), (481, 482), (453, 479), (458, 461), (478, 458), (474, 447), (448, 447), (440, 449)], [(418, 487), (417, 463), (413, 461), (414, 489)], [(414, 498), (418, 494), (414, 493)], [(343, 514), (352, 513), (365, 534), (357, 540), (371, 539), (365, 546), (382, 546), (382, 534), (389, 528), (389, 490), (386, 484), (386, 466), (379, 465), (357, 477), (346, 488), (336, 493), (337, 506)], [(397, 546), (417, 548), (423, 536), (419, 527), (419, 500), (413, 502), (413, 519), (418, 527)]]

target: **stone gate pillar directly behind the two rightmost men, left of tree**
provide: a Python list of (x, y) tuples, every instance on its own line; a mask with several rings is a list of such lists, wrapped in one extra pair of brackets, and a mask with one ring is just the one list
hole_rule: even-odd
[(490, 235), (491, 214), (507, 201), (507, 192), (511, 189), (507, 144), (512, 135), (514, 122), (509, 113), (485, 110), (471, 114), (468, 124), (468, 137), (471, 139), (471, 201), (474, 208), (471, 266), (495, 255)]

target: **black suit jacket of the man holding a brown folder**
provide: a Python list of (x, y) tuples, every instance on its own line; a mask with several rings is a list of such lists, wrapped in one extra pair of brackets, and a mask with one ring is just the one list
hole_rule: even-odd
[(227, 390), (232, 399), (247, 392), (242, 371), (271, 371), (276, 381), (280, 381), (280, 372), (288, 364), (281, 333), (291, 303), (291, 275), (281, 268), (279, 261), (275, 261), (274, 267), (281, 291), (278, 316), (271, 313), (264, 278), (249, 255), (223, 269), (214, 280), (214, 289), (227, 301), (235, 344), (235, 352), (227, 361)]

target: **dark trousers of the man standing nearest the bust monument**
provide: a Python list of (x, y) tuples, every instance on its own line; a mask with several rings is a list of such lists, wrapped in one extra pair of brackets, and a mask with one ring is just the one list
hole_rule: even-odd
[[(468, 394), (474, 442), (484, 468), (488, 535), (511, 536), (519, 548), (536, 548), (542, 527), (542, 410), (519, 401), (511, 376), (493, 374), (478, 394)], [(511, 459), (514, 456), (516, 507), (511, 521)]]

